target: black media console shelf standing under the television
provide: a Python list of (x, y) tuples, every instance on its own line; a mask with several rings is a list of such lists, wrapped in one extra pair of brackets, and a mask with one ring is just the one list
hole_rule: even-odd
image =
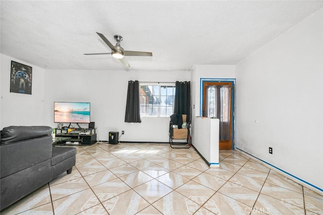
[[(92, 133), (94, 130), (94, 133)], [(60, 131), (58, 133), (57, 131)], [(85, 132), (86, 134), (82, 133)], [(56, 137), (68, 137), (69, 139), (64, 140), (62, 143), (56, 145), (92, 145), (96, 143), (96, 129), (95, 128), (77, 128), (71, 132), (65, 129), (56, 129)], [(75, 144), (78, 142), (78, 144)]]

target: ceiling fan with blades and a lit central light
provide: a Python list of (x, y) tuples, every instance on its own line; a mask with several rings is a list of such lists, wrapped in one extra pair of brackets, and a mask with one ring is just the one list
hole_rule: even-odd
[(126, 60), (125, 56), (146, 56), (146, 57), (152, 57), (151, 52), (145, 52), (145, 51), (128, 51), (124, 50), (123, 47), (121, 47), (120, 42), (123, 40), (122, 36), (115, 35), (114, 38), (117, 41), (116, 45), (113, 45), (109, 40), (106, 39), (106, 37), (96, 32), (99, 37), (111, 48), (111, 52), (105, 52), (105, 53), (85, 53), (83, 55), (112, 55), (112, 57), (118, 59), (126, 68), (129, 68), (130, 65), (128, 64), (128, 61)]

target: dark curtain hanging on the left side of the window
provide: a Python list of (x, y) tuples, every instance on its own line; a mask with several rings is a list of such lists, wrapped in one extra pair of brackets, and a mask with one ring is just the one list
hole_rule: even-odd
[(139, 102), (139, 81), (129, 81), (125, 116), (126, 123), (141, 123)]

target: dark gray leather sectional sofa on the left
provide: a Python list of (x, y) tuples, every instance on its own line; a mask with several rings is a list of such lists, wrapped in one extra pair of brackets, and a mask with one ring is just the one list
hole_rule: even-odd
[(1, 131), (0, 210), (65, 171), (72, 172), (76, 148), (52, 146), (48, 126), (10, 126)]

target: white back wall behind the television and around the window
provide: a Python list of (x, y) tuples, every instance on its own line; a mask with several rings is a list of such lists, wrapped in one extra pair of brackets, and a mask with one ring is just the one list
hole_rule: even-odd
[(168, 142), (169, 117), (124, 122), (128, 81), (190, 81), (190, 76), (190, 71), (46, 70), (43, 118), (46, 124), (56, 127), (54, 101), (91, 102), (91, 121), (98, 128), (98, 140), (108, 140), (109, 131), (119, 131), (121, 135), (124, 130), (120, 141)]

